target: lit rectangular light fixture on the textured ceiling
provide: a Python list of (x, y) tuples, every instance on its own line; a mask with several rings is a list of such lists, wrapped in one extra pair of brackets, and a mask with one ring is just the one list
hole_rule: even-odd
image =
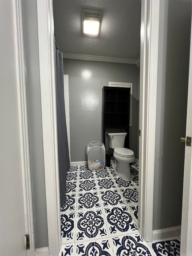
[(85, 35), (98, 36), (103, 11), (82, 8), (82, 31)]

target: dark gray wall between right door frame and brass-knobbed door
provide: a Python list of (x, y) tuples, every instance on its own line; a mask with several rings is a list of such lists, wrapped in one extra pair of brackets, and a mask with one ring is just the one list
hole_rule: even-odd
[(160, 1), (153, 230), (181, 225), (191, 1)]

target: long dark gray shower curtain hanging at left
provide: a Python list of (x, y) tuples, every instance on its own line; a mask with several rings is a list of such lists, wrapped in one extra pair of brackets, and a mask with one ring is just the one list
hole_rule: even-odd
[(57, 105), (57, 138), (58, 138), (58, 162), (59, 162), (59, 185), (60, 204), (66, 199), (66, 175), (70, 168), (69, 147), (67, 140), (67, 124), (65, 118), (64, 81), (63, 81), (63, 54), (56, 51), (55, 83)]

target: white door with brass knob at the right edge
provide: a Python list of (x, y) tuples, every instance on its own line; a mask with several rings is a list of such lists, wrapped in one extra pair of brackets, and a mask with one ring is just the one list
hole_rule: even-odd
[[(187, 138), (189, 137), (189, 138)], [(192, 255), (192, 149), (187, 139), (192, 137), (192, 33), (190, 42), (189, 86), (187, 100), (187, 124), (183, 181), (181, 255)], [(190, 144), (190, 143), (189, 143)]]

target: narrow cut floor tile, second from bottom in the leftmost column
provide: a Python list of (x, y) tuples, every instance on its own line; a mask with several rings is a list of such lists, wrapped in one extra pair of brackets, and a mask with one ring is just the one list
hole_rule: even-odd
[(71, 243), (75, 239), (75, 212), (61, 214), (61, 238), (62, 243)]

